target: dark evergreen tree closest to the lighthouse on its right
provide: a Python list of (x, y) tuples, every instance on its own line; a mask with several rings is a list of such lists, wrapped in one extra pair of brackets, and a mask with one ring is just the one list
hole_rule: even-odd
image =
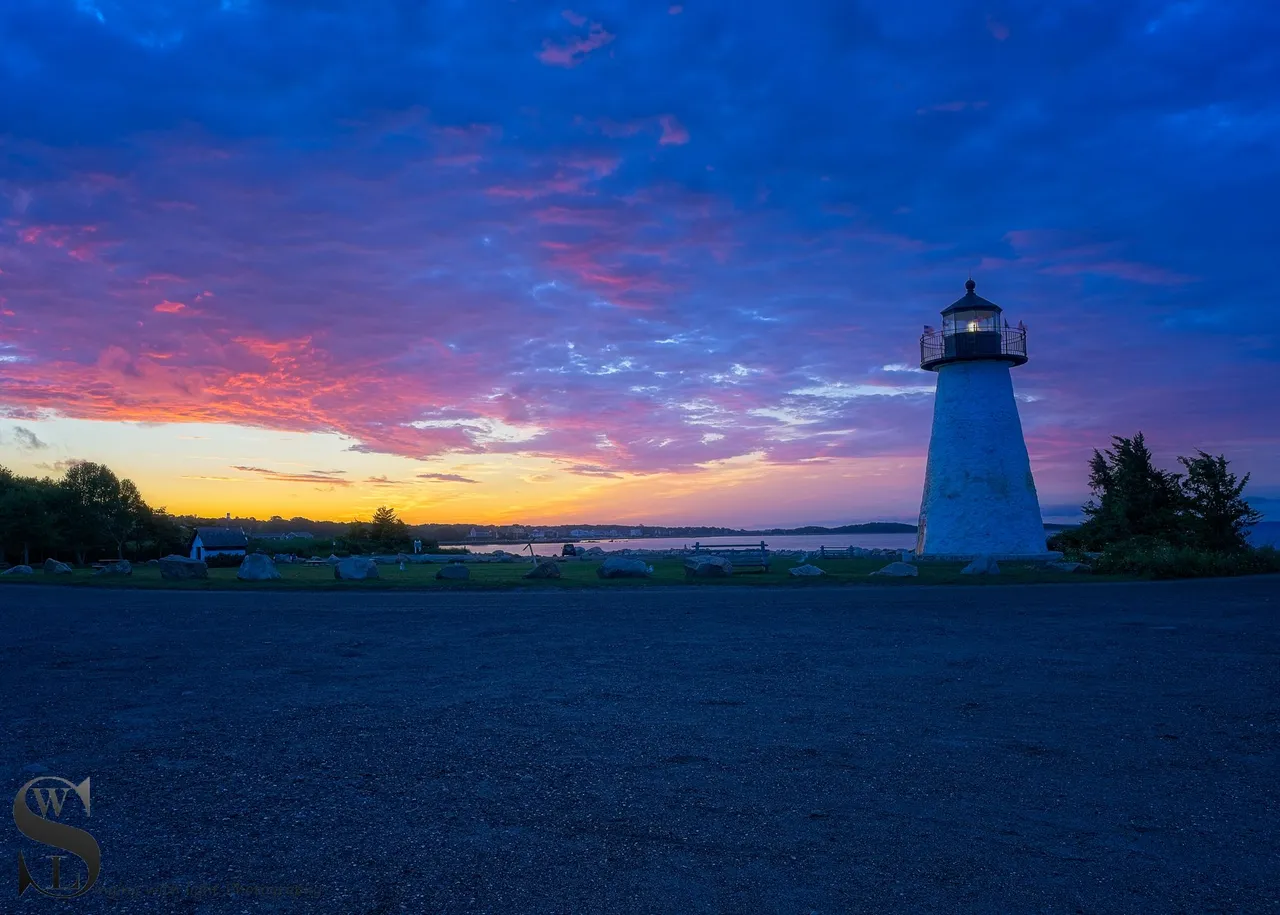
[(1093, 452), (1087, 521), (1080, 536), (1097, 549), (1135, 536), (1181, 540), (1185, 498), (1180, 476), (1157, 470), (1142, 433), (1132, 439), (1115, 435), (1106, 452)]

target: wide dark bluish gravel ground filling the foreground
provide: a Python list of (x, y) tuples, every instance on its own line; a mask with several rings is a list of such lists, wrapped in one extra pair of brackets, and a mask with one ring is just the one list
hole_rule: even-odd
[[(14, 586), (0, 768), (92, 778), (67, 911), (1280, 911), (1277, 612), (1277, 577)], [(5, 822), (10, 895), (18, 851), (83, 873)]]

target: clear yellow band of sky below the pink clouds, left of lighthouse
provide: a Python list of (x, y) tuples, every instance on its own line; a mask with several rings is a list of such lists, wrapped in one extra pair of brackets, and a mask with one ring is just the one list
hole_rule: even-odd
[[(26, 429), (35, 440), (15, 433)], [(911, 520), (922, 458), (767, 465), (758, 456), (685, 473), (598, 476), (521, 454), (415, 461), (352, 450), (335, 434), (219, 424), (69, 418), (0, 424), (0, 463), (60, 476), (105, 463), (152, 505), (177, 514), (367, 518), (392, 505), (410, 523), (795, 526)], [(780, 508), (780, 504), (783, 508)], [(895, 511), (896, 509), (896, 511)]]

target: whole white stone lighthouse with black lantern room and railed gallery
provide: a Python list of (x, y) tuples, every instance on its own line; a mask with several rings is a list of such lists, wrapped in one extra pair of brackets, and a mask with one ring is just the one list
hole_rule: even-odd
[(974, 292), (925, 328), (920, 367), (938, 374), (915, 553), (922, 558), (1051, 558), (1009, 370), (1027, 330)]

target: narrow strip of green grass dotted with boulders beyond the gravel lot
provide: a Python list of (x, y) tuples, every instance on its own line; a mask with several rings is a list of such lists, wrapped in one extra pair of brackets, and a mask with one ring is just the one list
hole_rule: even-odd
[(1037, 568), (1025, 563), (1001, 564), (998, 576), (961, 575), (963, 563), (920, 563), (920, 573), (911, 578), (890, 578), (870, 576), (883, 568), (886, 559), (819, 559), (812, 561), (827, 575), (813, 578), (797, 578), (787, 573), (799, 564), (791, 559), (777, 559), (769, 572), (742, 572), (730, 578), (701, 578), (686, 581), (682, 559), (660, 559), (653, 563), (653, 576), (649, 578), (598, 578), (595, 569), (600, 561), (563, 562), (558, 581), (527, 581), (524, 578), (530, 564), (517, 563), (468, 563), (470, 581), (436, 581), (438, 564), (408, 564), (401, 572), (397, 566), (379, 566), (381, 576), (376, 581), (338, 581), (328, 566), (278, 566), (280, 581), (247, 582), (236, 578), (234, 568), (211, 568), (206, 581), (165, 581), (160, 577), (157, 566), (136, 564), (129, 577), (95, 576), (91, 571), (77, 569), (73, 575), (45, 575), (36, 571), (32, 576), (0, 576), (0, 584), (42, 584), (61, 587), (164, 587), (173, 590), (484, 590), (484, 589), (582, 589), (582, 587), (660, 587), (669, 585), (694, 585), (696, 587), (814, 587), (829, 585), (1001, 585), (1029, 582), (1089, 582), (1125, 581), (1135, 576), (1071, 575), (1052, 569)]

